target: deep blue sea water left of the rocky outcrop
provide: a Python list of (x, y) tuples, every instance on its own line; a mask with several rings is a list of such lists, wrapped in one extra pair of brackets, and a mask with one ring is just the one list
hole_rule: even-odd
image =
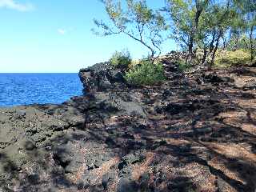
[(78, 95), (78, 74), (0, 74), (0, 106), (58, 104)]

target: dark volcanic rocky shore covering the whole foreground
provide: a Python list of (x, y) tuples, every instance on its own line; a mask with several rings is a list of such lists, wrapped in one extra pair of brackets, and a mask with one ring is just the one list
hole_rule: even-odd
[(254, 192), (256, 68), (127, 85), (108, 62), (80, 70), (84, 95), (0, 108), (0, 191)]

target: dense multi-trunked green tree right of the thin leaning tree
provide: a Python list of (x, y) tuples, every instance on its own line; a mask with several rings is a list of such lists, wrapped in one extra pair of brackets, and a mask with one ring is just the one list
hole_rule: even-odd
[(211, 56), (211, 68), (222, 39), (224, 44), (227, 31), (238, 18), (232, 0), (166, 0), (166, 11), (177, 42), (189, 56), (203, 50), (202, 64)]

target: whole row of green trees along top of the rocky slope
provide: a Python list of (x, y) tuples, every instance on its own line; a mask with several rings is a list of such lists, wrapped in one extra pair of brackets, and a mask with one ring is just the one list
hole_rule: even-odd
[[(110, 21), (94, 20), (107, 36), (126, 34), (141, 42), (150, 58), (161, 54), (162, 42), (173, 38), (190, 62), (200, 52), (200, 62), (211, 67), (218, 50), (256, 54), (256, 0), (162, 0), (155, 10), (146, 0), (102, 0)], [(160, 2), (160, 1), (159, 1)]]

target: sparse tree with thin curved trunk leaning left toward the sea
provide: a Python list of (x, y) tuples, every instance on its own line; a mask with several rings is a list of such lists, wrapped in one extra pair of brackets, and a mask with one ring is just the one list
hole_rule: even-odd
[(150, 9), (145, 0), (122, 2), (102, 0), (111, 24), (94, 19), (101, 29), (101, 32), (94, 30), (94, 33), (102, 36), (126, 34), (150, 50), (150, 58), (158, 58), (162, 42), (166, 40), (165, 31), (168, 30), (165, 19), (158, 10)]

